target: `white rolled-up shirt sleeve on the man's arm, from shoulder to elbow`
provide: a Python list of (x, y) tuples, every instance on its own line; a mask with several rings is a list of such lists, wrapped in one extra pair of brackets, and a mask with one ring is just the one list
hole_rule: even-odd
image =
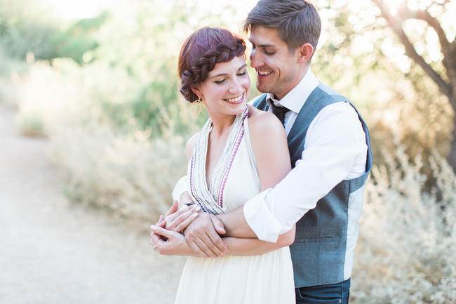
[(302, 158), (280, 183), (244, 204), (244, 216), (258, 239), (276, 242), (335, 185), (365, 171), (366, 136), (348, 103), (321, 110), (304, 147)]

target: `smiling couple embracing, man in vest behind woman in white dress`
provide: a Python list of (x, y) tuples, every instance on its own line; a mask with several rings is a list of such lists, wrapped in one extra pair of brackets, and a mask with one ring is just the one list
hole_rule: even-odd
[(264, 93), (251, 103), (240, 37), (204, 27), (182, 46), (180, 92), (210, 118), (152, 244), (189, 256), (175, 303), (348, 303), (368, 128), (310, 68), (321, 21), (308, 1), (260, 0), (244, 29)]

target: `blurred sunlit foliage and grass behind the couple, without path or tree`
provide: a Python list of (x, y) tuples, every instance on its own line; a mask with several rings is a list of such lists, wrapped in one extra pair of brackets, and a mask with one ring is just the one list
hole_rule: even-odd
[[(427, 8), (455, 39), (454, 2), (385, 2)], [(49, 138), (69, 199), (147, 227), (168, 209), (186, 171), (185, 142), (208, 117), (178, 91), (180, 46), (206, 25), (240, 32), (255, 1), (71, 3), (0, 0), (0, 104), (18, 106), (24, 135)], [(373, 2), (314, 4), (323, 32), (312, 70), (351, 99), (373, 143), (354, 303), (456, 303), (448, 98), (405, 55)], [(404, 28), (443, 73), (436, 34), (420, 20)]]

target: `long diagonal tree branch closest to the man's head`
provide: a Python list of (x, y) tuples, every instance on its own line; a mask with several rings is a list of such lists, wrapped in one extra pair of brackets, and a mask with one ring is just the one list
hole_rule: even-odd
[(431, 77), (431, 79), (437, 84), (441, 93), (443, 93), (451, 100), (452, 90), (450, 85), (447, 84), (442, 79), (440, 74), (438, 74), (426, 61), (424, 61), (422, 56), (420, 56), (420, 54), (417, 53), (417, 51), (415, 50), (415, 46), (413, 46), (413, 44), (410, 42), (410, 40), (407, 37), (407, 34), (405, 34), (402, 28), (401, 20), (395, 18), (388, 12), (387, 7), (382, 0), (372, 1), (375, 4), (377, 4), (377, 6), (380, 8), (383, 17), (387, 20), (393, 31), (398, 35), (399, 39), (401, 39), (402, 44), (405, 46), (405, 54), (408, 55), (408, 57), (412, 58), (418, 65), (420, 65), (424, 72), (426, 72), (426, 74), (428, 74), (428, 76)]

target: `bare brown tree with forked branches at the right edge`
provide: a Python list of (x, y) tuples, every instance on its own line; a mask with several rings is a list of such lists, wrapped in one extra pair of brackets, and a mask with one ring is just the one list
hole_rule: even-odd
[[(382, 17), (387, 20), (387, 24), (398, 36), (401, 44), (405, 47), (405, 54), (413, 60), (417, 65), (422, 67), (422, 70), (427, 74), (428, 77), (434, 81), (438, 86), (439, 91), (448, 98), (453, 111), (453, 130), (452, 130), (452, 142), (450, 144), (450, 153), (448, 154), (448, 163), (452, 166), (453, 171), (456, 172), (456, 38), (452, 41), (448, 41), (447, 34), (443, 29), (441, 22), (434, 15), (431, 15), (432, 8), (441, 6), (443, 10), (446, 6), (450, 5), (449, 0), (431, 1), (423, 9), (410, 9), (407, 1), (400, 1), (400, 4), (396, 8), (394, 13), (391, 13), (389, 6), (387, 6), (384, 0), (372, 0), (378, 8)], [(427, 27), (431, 28), (436, 32), (438, 41), (440, 44), (440, 51), (443, 55), (441, 65), (443, 71), (436, 69), (435, 65), (431, 65), (429, 60), (424, 58), (424, 55), (420, 55), (410, 39), (408, 34), (404, 30), (404, 22), (407, 20), (422, 20), (426, 22)], [(423, 38), (424, 39), (424, 38)]]

